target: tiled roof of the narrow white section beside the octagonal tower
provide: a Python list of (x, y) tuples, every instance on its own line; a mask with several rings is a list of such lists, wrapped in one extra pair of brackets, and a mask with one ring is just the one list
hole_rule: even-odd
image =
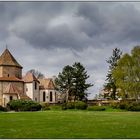
[(34, 76), (34, 74), (32, 74), (31, 72), (28, 72), (24, 77), (23, 77), (23, 81), (25, 83), (30, 83), (30, 82), (33, 82), (33, 81), (37, 81), (37, 78)]

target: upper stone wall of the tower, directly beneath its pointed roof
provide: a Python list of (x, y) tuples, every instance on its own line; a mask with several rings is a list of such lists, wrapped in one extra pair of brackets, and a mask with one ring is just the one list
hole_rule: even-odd
[(22, 69), (19, 67), (0, 66), (0, 77), (22, 78)]

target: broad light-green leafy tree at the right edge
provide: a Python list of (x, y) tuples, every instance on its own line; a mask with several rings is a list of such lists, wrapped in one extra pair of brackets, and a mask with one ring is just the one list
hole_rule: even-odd
[(131, 55), (124, 54), (113, 70), (116, 86), (124, 98), (138, 99), (140, 95), (140, 46), (134, 47)]

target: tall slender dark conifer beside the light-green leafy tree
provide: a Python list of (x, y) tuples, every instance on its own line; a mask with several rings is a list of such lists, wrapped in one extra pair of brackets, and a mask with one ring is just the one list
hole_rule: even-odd
[(107, 63), (109, 64), (109, 70), (106, 76), (107, 83), (104, 85), (104, 87), (108, 90), (112, 90), (112, 93), (111, 93), (112, 99), (116, 99), (116, 84), (115, 84), (115, 79), (112, 76), (112, 72), (117, 66), (117, 62), (121, 58), (121, 55), (122, 55), (122, 52), (120, 51), (120, 49), (115, 48), (113, 50), (112, 56), (109, 57), (109, 59), (107, 60)]

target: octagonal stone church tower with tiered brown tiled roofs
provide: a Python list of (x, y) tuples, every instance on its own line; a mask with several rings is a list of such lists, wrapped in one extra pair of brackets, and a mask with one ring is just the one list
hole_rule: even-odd
[(0, 105), (6, 106), (10, 100), (24, 97), (22, 66), (5, 49), (0, 56)]

